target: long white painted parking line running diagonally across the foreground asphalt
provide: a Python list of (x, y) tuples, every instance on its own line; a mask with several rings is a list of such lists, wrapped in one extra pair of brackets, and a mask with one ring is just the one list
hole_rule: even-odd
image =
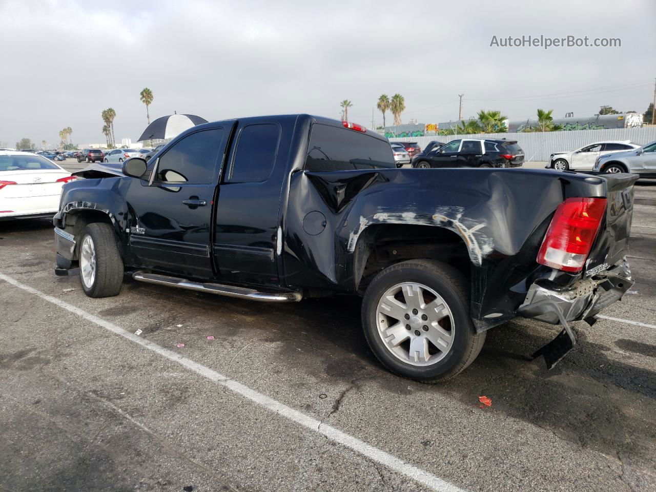
[(195, 373), (209, 380), (225, 386), (229, 390), (232, 390), (233, 392), (257, 403), (258, 405), (262, 405), (262, 407), (265, 407), (266, 409), (276, 413), (276, 415), (280, 415), (286, 419), (293, 420), (294, 422), (297, 422), (297, 424), (313, 430), (314, 432), (318, 432), (326, 438), (340, 443), (341, 445), (344, 445), (353, 451), (356, 451), (356, 453), (359, 453), (373, 461), (377, 461), (380, 464), (384, 464), (384, 466), (387, 466), (391, 470), (394, 470), (395, 472), (405, 475), (412, 480), (426, 485), (426, 487), (429, 487), (430, 489), (440, 492), (465, 492), (464, 489), (461, 489), (452, 483), (446, 482), (445, 480), (442, 480), (441, 478), (438, 478), (429, 472), (417, 468), (416, 466), (413, 466), (394, 455), (390, 455), (390, 453), (386, 453), (385, 451), (382, 451), (382, 449), (378, 449), (377, 447), (367, 444), (358, 438), (354, 438), (353, 436), (350, 436), (350, 434), (346, 434), (346, 432), (342, 432), (333, 426), (323, 424), (321, 421), (314, 419), (309, 415), (305, 415), (304, 413), (299, 412), (298, 410), (295, 410), (291, 407), (288, 407), (287, 405), (280, 403), (273, 398), (269, 398), (268, 396), (258, 393), (255, 390), (251, 390), (251, 388), (248, 386), (245, 386), (244, 384), (241, 384), (234, 379), (230, 379), (227, 376), (221, 375), (209, 367), (194, 362), (192, 359), (180, 356), (180, 354), (177, 354), (172, 350), (159, 346), (150, 340), (138, 337), (129, 331), (125, 331), (123, 328), (110, 323), (110, 321), (98, 318), (98, 316), (77, 308), (72, 304), (68, 304), (68, 302), (64, 302), (63, 300), (60, 300), (56, 297), (52, 297), (44, 294), (41, 291), (37, 291), (37, 289), (33, 289), (33, 287), (30, 287), (29, 285), (20, 283), (18, 280), (5, 274), (0, 273), (0, 279), (10, 283), (11, 285), (14, 285), (15, 287), (18, 287), (18, 289), (22, 289), (26, 292), (29, 292), (30, 294), (42, 298), (43, 300), (47, 300), (48, 302), (51, 302), (52, 304), (55, 304), (62, 309), (72, 312), (73, 314), (77, 314), (77, 316), (80, 316), (87, 321), (91, 321), (91, 323), (95, 323), (96, 325), (106, 330), (112, 331), (116, 335), (127, 338), (131, 342), (139, 344), (148, 350), (152, 350), (152, 352), (155, 352), (160, 356), (177, 362), (190, 371), (194, 371)]

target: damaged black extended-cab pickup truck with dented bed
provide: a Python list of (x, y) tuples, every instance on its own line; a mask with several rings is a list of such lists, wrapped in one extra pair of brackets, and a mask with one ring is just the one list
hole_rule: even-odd
[[(363, 297), (371, 350), (426, 382), (516, 316), (562, 325), (552, 367), (632, 285), (632, 174), (396, 169), (388, 141), (311, 115), (199, 125), (148, 163), (64, 185), (56, 273), (90, 297), (138, 281), (265, 302)], [(73, 274), (75, 272), (72, 272)]]

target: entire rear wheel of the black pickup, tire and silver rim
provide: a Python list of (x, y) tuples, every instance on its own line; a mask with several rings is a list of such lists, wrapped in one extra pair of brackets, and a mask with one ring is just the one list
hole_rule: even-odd
[(382, 270), (362, 303), (369, 347), (390, 371), (420, 382), (461, 373), (476, 359), (485, 332), (469, 315), (467, 282), (455, 268), (410, 260)]

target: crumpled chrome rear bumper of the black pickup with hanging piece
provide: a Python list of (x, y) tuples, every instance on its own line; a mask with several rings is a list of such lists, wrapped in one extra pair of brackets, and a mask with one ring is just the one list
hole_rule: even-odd
[(581, 279), (568, 289), (554, 289), (548, 283), (545, 279), (533, 283), (517, 314), (562, 325), (563, 331), (558, 337), (533, 354), (533, 358), (544, 356), (548, 369), (551, 369), (576, 345), (568, 321), (585, 319), (593, 325), (595, 315), (620, 300), (633, 285), (633, 279), (628, 262), (623, 258), (613, 268)]

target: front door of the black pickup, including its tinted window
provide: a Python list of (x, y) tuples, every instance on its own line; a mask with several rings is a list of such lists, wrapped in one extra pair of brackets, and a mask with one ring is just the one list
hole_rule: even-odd
[[(213, 278), (213, 201), (230, 127), (186, 133), (156, 159), (148, 179), (129, 180), (129, 255), (134, 266)], [(146, 173), (148, 175), (149, 173)]]

